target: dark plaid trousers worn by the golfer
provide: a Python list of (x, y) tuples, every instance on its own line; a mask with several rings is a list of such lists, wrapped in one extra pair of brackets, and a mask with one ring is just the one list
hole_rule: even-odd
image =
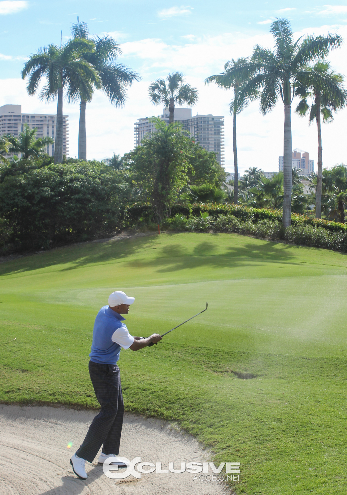
[(93, 462), (101, 445), (104, 454), (118, 455), (124, 403), (118, 366), (89, 361), (89, 374), (101, 410), (93, 419), (76, 455)]

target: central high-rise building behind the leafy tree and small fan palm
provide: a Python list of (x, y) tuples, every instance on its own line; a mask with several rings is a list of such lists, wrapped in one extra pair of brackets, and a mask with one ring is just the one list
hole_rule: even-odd
[[(169, 123), (169, 110), (163, 110), (161, 120)], [(183, 129), (193, 136), (206, 151), (214, 151), (216, 160), (224, 166), (224, 116), (196, 115), (192, 117), (191, 108), (175, 108), (174, 120), (181, 122)], [(155, 132), (153, 122), (148, 117), (138, 119), (134, 124), (135, 146), (141, 146), (146, 134)]]

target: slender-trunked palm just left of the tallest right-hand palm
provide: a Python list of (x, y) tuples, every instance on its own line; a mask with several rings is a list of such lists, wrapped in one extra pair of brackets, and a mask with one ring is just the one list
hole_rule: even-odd
[(239, 194), (239, 171), (236, 145), (236, 114), (240, 113), (248, 103), (257, 96), (256, 92), (250, 94), (244, 93), (243, 99), (239, 98), (241, 86), (247, 82), (250, 77), (250, 66), (246, 58), (230, 60), (224, 65), (224, 72), (207, 77), (205, 84), (215, 83), (219, 88), (234, 89), (234, 98), (230, 104), (230, 113), (233, 114), (233, 148), (234, 148), (234, 203), (238, 203)]

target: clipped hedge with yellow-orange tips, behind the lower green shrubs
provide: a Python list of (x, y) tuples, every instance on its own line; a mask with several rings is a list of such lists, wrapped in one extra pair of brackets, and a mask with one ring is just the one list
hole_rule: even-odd
[[(199, 204), (192, 205), (193, 216), (199, 216), (200, 211), (207, 211), (211, 216), (232, 214), (236, 218), (242, 221), (252, 220), (254, 223), (259, 220), (271, 220), (282, 222), (282, 211), (270, 210), (266, 208), (248, 208), (239, 204)], [(149, 203), (136, 203), (130, 206), (126, 213), (126, 219), (130, 221), (137, 221), (143, 217), (145, 219), (150, 218), (152, 214)], [(182, 204), (175, 204), (171, 208), (171, 218), (176, 214), (181, 214), (186, 217), (190, 215), (190, 209), (188, 206)], [(331, 232), (344, 232), (347, 233), (347, 225), (344, 223), (333, 222), (329, 220), (309, 218), (305, 215), (298, 213), (292, 213), (292, 225), (312, 225), (312, 227), (321, 227), (322, 229), (329, 230)]]

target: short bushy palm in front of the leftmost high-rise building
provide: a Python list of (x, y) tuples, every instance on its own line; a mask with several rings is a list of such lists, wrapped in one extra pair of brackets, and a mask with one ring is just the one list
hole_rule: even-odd
[(44, 153), (44, 148), (47, 145), (52, 145), (54, 141), (49, 136), (36, 138), (36, 133), (36, 128), (30, 129), (26, 124), (23, 132), (19, 133), (18, 139), (14, 136), (8, 137), (8, 141), (10, 142), (9, 152), (15, 154), (21, 153), (22, 158), (38, 158)]

